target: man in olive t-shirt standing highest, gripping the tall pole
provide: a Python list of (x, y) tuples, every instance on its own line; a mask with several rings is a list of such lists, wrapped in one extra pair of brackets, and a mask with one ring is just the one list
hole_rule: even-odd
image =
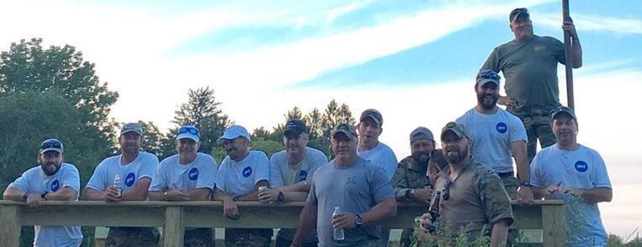
[[(528, 135), (528, 161), (535, 157), (537, 139), (545, 148), (555, 143), (550, 127), (551, 110), (560, 105), (557, 63), (565, 64), (564, 44), (553, 37), (534, 35), (530, 13), (516, 8), (509, 15), (510, 30), (515, 39), (495, 47), (482, 69), (503, 72), (507, 96), (498, 103), (517, 115)], [(571, 35), (573, 67), (582, 66), (582, 47), (572, 20), (564, 21), (562, 30)]]

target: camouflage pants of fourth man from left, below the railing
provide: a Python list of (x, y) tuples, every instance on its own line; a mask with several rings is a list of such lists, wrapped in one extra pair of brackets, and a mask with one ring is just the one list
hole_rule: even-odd
[(225, 228), (225, 247), (269, 247), (271, 243), (271, 228)]

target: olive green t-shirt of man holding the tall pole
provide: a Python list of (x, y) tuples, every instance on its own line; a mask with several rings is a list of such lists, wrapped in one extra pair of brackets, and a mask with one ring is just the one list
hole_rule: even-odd
[(516, 100), (510, 112), (550, 110), (559, 106), (557, 63), (564, 64), (564, 44), (553, 37), (511, 40), (495, 47), (482, 69), (503, 72), (506, 94)]

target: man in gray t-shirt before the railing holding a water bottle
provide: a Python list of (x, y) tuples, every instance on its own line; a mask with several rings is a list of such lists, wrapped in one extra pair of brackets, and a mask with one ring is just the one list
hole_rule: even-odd
[[(318, 246), (377, 246), (378, 225), (397, 214), (392, 185), (381, 167), (357, 155), (354, 127), (339, 124), (331, 137), (336, 158), (317, 169), (291, 246), (300, 246), (315, 225)], [(333, 215), (335, 207), (340, 210)], [(335, 230), (345, 239), (334, 239)]]

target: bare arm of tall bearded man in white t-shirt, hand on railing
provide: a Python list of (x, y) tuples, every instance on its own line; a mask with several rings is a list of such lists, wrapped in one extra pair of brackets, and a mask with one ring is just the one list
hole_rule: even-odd
[(517, 180), (519, 180), (519, 189), (517, 190), (517, 202), (532, 203), (533, 191), (528, 186), (522, 186), (521, 183), (530, 181), (530, 164), (526, 158), (526, 141), (510, 142), (510, 152), (515, 158), (517, 165)]

